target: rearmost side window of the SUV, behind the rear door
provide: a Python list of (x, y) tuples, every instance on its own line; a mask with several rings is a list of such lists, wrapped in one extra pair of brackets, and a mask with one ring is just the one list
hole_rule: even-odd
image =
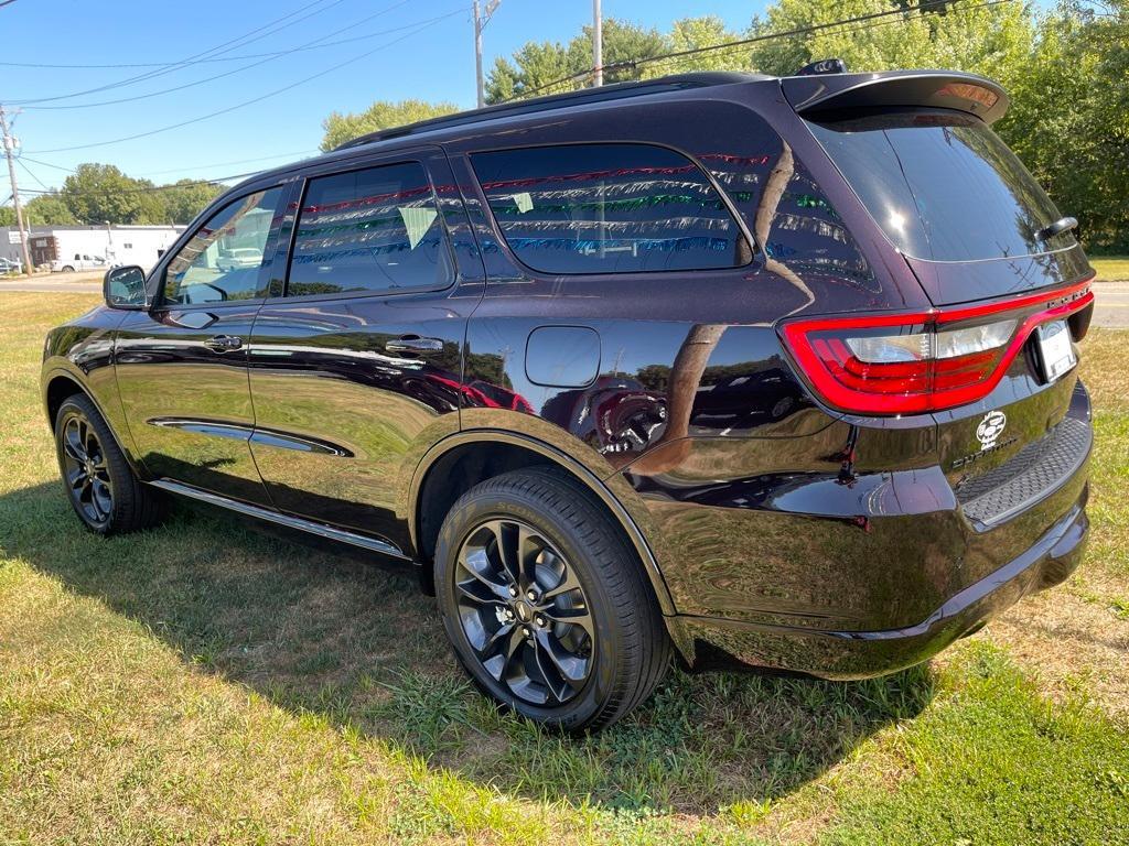
[(672, 150), (568, 144), (471, 158), (502, 237), (536, 271), (689, 271), (752, 261), (704, 174)]

